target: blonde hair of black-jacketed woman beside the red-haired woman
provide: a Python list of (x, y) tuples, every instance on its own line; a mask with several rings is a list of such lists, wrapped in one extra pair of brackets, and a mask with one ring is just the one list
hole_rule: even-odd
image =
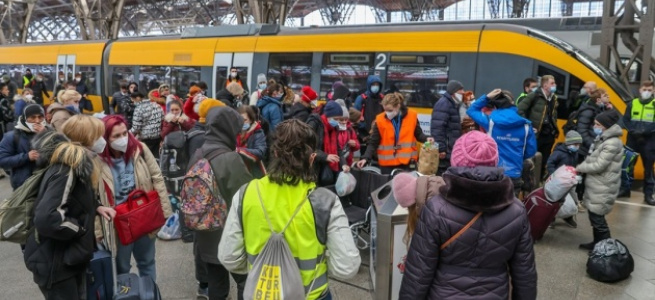
[(105, 124), (87, 115), (74, 115), (64, 123), (61, 132), (72, 142), (90, 148), (105, 134)]

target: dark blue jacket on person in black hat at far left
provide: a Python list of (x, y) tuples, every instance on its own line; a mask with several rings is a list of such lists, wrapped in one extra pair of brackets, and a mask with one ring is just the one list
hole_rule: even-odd
[[(15, 135), (18, 135), (18, 139)], [(11, 170), (11, 188), (14, 190), (32, 176), (36, 168), (35, 162), (30, 161), (28, 155), (32, 150), (30, 141), (35, 135), (24, 124), (23, 116), (20, 116), (14, 130), (5, 133), (0, 141), (0, 168)]]

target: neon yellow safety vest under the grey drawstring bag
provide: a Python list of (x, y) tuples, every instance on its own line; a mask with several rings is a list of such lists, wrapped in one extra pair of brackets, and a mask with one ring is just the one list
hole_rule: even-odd
[[(244, 191), (243, 201), (239, 208), (249, 269), (252, 268), (252, 263), (271, 236), (254, 184), (259, 184), (264, 207), (266, 207), (273, 228), (278, 231), (282, 230), (289, 221), (300, 201), (306, 197), (306, 193), (316, 187), (314, 183), (302, 181), (297, 186), (281, 186), (270, 182), (268, 177), (251, 181)], [(327, 225), (319, 224), (321, 224), (321, 218), (329, 219), (336, 195), (322, 193), (322, 190), (325, 189), (318, 188), (312, 192), (309, 201), (303, 204), (289, 228), (284, 232), (289, 250), (300, 270), (305, 292), (309, 293), (308, 299), (319, 298), (328, 288), (327, 262), (323, 258), (327, 242), (327, 228), (324, 227)], [(334, 199), (326, 199), (329, 196), (334, 196)], [(280, 197), (294, 200), (280, 203)], [(318, 215), (315, 216), (315, 213)], [(327, 224), (327, 222), (323, 223)], [(316, 280), (312, 286), (314, 277)], [(311, 291), (309, 291), (310, 286)]]

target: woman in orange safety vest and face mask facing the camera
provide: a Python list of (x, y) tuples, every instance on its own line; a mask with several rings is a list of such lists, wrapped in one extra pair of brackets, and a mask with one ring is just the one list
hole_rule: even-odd
[(397, 168), (409, 169), (410, 163), (418, 160), (416, 142), (434, 142), (434, 139), (423, 133), (418, 114), (405, 106), (400, 93), (384, 96), (382, 106), (384, 112), (375, 117), (366, 153), (357, 166), (363, 168), (376, 151), (382, 174), (389, 174)]

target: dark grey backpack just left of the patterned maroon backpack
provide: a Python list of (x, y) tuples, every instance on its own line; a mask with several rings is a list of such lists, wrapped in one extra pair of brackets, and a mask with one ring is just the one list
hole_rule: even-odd
[(181, 187), (180, 183), (189, 170), (191, 154), (187, 142), (191, 138), (204, 133), (202, 130), (190, 132), (180, 130), (171, 132), (164, 138), (159, 156), (159, 168), (166, 182), (166, 187), (173, 194), (178, 194)]

